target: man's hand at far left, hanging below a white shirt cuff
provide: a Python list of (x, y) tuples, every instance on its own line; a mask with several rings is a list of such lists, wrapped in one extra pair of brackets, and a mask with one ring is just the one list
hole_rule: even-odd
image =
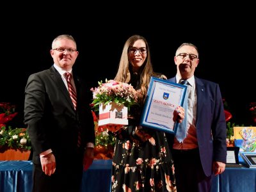
[(42, 164), (42, 170), (45, 175), (51, 176), (56, 170), (56, 161), (54, 154), (49, 153), (43, 157), (40, 157), (40, 161)]

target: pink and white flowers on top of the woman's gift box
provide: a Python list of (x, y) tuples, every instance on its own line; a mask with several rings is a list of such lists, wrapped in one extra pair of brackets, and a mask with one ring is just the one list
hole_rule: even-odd
[(116, 102), (118, 105), (124, 104), (127, 108), (138, 104), (138, 92), (131, 84), (115, 80), (108, 81), (108, 79), (106, 79), (106, 83), (99, 81), (98, 84), (97, 88), (91, 88), (93, 92), (93, 108), (99, 106), (99, 104), (106, 105), (109, 102)]

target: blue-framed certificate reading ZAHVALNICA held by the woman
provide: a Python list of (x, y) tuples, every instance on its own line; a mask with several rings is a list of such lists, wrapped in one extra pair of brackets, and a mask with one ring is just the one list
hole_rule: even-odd
[(186, 85), (151, 77), (141, 125), (176, 134), (178, 123), (173, 121), (173, 111), (183, 106), (186, 90)]

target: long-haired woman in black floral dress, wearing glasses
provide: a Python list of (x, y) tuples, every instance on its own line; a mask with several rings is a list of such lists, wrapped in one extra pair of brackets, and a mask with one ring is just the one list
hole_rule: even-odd
[[(108, 127), (116, 131), (111, 178), (112, 191), (177, 191), (172, 154), (164, 132), (140, 126), (140, 115), (153, 72), (147, 40), (133, 35), (124, 45), (115, 80), (132, 84), (140, 93), (140, 105), (131, 107), (129, 125)], [(179, 107), (179, 122), (184, 109)], [(117, 129), (120, 128), (120, 129)]]

